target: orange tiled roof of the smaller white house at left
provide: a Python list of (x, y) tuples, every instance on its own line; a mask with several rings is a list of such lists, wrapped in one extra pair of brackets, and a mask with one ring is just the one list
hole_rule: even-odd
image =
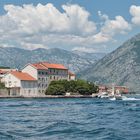
[(28, 73), (24, 73), (24, 72), (19, 72), (19, 71), (12, 71), (10, 72), (12, 75), (14, 75), (15, 77), (17, 77), (18, 79), (22, 80), (22, 81), (36, 81), (35, 78), (33, 78), (31, 75), (29, 75)]

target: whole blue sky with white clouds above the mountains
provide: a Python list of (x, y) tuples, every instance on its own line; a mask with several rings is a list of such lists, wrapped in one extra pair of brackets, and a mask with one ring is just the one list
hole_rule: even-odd
[(140, 33), (139, 0), (0, 0), (0, 46), (109, 53)]

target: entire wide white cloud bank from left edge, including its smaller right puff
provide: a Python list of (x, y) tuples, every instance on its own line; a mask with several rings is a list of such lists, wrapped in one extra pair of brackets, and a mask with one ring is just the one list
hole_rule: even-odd
[(98, 11), (102, 23), (98, 27), (84, 7), (64, 4), (61, 8), (58, 10), (52, 3), (5, 5), (6, 13), (0, 16), (0, 46), (28, 49), (79, 46), (86, 51), (85, 47), (112, 41), (115, 35), (131, 29), (122, 16), (110, 19)]

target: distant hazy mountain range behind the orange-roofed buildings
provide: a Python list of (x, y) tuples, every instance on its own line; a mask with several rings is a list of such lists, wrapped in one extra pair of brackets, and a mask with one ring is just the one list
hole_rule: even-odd
[(76, 73), (81, 69), (88, 68), (95, 63), (96, 60), (58, 48), (25, 50), (20, 48), (0, 47), (0, 66), (10, 66), (12, 68), (22, 68), (27, 63), (48, 61), (64, 64), (71, 71)]

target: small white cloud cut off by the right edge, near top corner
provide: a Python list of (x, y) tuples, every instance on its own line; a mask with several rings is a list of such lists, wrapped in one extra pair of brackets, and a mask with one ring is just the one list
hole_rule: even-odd
[(140, 6), (132, 5), (129, 12), (132, 15), (132, 23), (140, 25)]

